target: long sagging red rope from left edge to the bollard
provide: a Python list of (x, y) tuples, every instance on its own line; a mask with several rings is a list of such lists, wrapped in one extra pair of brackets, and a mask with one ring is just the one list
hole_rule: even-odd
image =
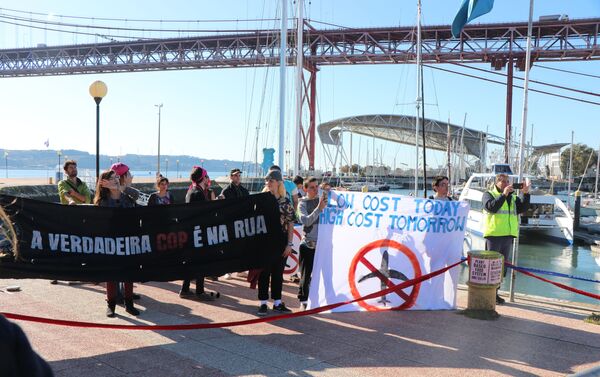
[(46, 324), (50, 324), (50, 325), (70, 326), (70, 327), (87, 327), (87, 328), (98, 328), (98, 329), (118, 329), (118, 330), (152, 330), (152, 331), (157, 331), (157, 330), (195, 330), (195, 329), (213, 329), (213, 328), (223, 328), (223, 327), (233, 327), (233, 326), (244, 326), (244, 325), (252, 325), (255, 323), (274, 322), (274, 321), (279, 321), (279, 320), (287, 319), (287, 318), (295, 318), (295, 317), (302, 317), (302, 316), (307, 316), (307, 315), (311, 315), (311, 314), (317, 314), (317, 313), (321, 313), (321, 312), (324, 312), (327, 310), (338, 308), (343, 305), (353, 304), (358, 301), (370, 300), (373, 298), (381, 297), (383, 295), (388, 295), (392, 292), (411, 287), (415, 284), (420, 284), (425, 280), (429, 280), (435, 276), (443, 274), (444, 272), (450, 270), (451, 268), (458, 266), (462, 262), (463, 262), (462, 260), (458, 261), (450, 266), (444, 267), (437, 271), (430, 272), (428, 274), (422, 275), (415, 279), (407, 280), (405, 282), (396, 284), (392, 287), (381, 290), (379, 292), (374, 292), (374, 293), (368, 294), (366, 296), (359, 297), (355, 300), (338, 302), (338, 303), (334, 303), (334, 304), (321, 306), (319, 308), (304, 310), (304, 311), (296, 312), (296, 313), (279, 314), (279, 315), (270, 316), (270, 317), (247, 319), (244, 321), (219, 322), (219, 323), (194, 323), (194, 324), (189, 324), (189, 325), (113, 325), (113, 324), (108, 324), (108, 323), (67, 321), (67, 320), (62, 320), (62, 319), (34, 317), (34, 316), (29, 316), (29, 315), (24, 315), (24, 314), (15, 314), (15, 313), (0, 312), (0, 314), (4, 315), (6, 318), (10, 318), (10, 319), (14, 319), (14, 320), (46, 323)]

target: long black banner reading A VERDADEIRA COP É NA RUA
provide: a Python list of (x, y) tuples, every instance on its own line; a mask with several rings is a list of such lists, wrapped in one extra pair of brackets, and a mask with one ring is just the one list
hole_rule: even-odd
[(18, 236), (0, 278), (169, 281), (266, 266), (286, 237), (269, 193), (168, 206), (67, 206), (0, 195)]

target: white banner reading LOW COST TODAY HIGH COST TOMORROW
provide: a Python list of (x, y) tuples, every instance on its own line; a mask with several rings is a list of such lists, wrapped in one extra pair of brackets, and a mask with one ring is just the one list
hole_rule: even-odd
[[(460, 260), (469, 206), (388, 193), (331, 192), (319, 220), (309, 308), (353, 300)], [(458, 268), (334, 311), (456, 306)]]

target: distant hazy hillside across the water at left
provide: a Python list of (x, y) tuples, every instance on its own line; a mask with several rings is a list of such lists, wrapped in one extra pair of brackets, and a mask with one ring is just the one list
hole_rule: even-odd
[[(6, 161), (1, 162), (0, 166), (2, 168), (4, 168), (5, 162), (7, 162), (8, 169), (55, 169), (59, 163), (59, 159), (61, 166), (66, 159), (73, 159), (77, 161), (77, 165), (81, 169), (96, 168), (96, 155), (74, 149), (62, 150), (61, 156), (58, 155), (56, 150), (51, 149), (14, 151), (0, 149), (0, 157), (2, 157), (3, 160), (5, 151), (8, 152), (8, 158)], [(162, 171), (166, 170), (165, 160), (167, 159), (169, 160), (169, 171), (175, 171), (175, 169), (177, 169), (177, 160), (179, 160), (179, 170), (182, 172), (191, 170), (194, 165), (202, 165), (208, 171), (227, 171), (234, 167), (242, 168), (243, 165), (241, 161), (211, 160), (194, 156), (161, 155), (160, 165)], [(110, 165), (117, 162), (117, 160), (126, 163), (132, 170), (156, 171), (156, 156), (138, 154), (126, 154), (120, 157), (100, 155), (100, 169), (110, 167)], [(245, 164), (246, 169), (250, 169), (250, 166), (252, 166), (250, 162)]]

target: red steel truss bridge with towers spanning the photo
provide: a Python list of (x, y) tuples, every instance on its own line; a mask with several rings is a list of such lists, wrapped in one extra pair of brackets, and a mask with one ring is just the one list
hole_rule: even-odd
[[(532, 62), (597, 60), (600, 18), (537, 22), (533, 25)], [(288, 65), (294, 65), (295, 33), (288, 35)], [(450, 26), (422, 28), (423, 62), (482, 63), (496, 70), (508, 65), (524, 69), (527, 23), (467, 26), (453, 38)], [(317, 30), (306, 23), (304, 61), (309, 79), (304, 80), (303, 101), (309, 124), (302, 126), (309, 170), (314, 169), (316, 73), (320, 65), (414, 63), (416, 28)], [(136, 72), (198, 68), (276, 66), (279, 61), (279, 30), (257, 30), (176, 39), (136, 40), (56, 47), (0, 50), (0, 77), (50, 76), (108, 72)], [(510, 127), (512, 85), (507, 85), (507, 134)]]

